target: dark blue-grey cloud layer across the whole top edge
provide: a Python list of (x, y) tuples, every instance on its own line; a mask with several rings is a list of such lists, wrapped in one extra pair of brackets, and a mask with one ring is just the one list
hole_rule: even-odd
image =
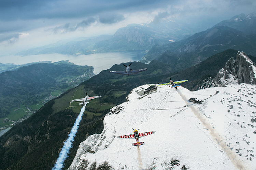
[[(54, 29), (55, 32), (58, 32), (58, 30), (64, 32), (75, 31), (79, 28), (86, 28), (94, 22), (114, 24), (124, 20), (124, 15), (126, 14), (138, 11), (151, 13), (157, 8), (161, 9), (162, 12), (155, 17), (155, 21), (164, 18), (165, 15), (171, 16), (173, 13), (200, 12), (200, 8), (202, 9), (201, 12), (209, 13), (211, 6), (214, 6), (211, 10), (213, 12), (217, 11), (217, 8), (223, 8), (225, 9), (225, 15), (230, 14), (231, 11), (239, 14), (241, 13), (241, 7), (248, 7), (246, 8), (246, 12), (255, 7), (254, 1), (255, 0), (0, 0), (0, 33), (11, 31), (19, 32), (21, 29), (22, 31), (27, 31), (40, 27), (54, 27), (54, 25), (61, 25)], [(205, 11), (204, 9), (208, 10)], [(238, 9), (240, 10), (239, 12), (237, 12)], [(83, 20), (83, 18), (88, 19)], [(89, 20), (92, 18), (95, 19), (95, 21)], [(5, 25), (5, 23), (8, 23), (8, 25)]]

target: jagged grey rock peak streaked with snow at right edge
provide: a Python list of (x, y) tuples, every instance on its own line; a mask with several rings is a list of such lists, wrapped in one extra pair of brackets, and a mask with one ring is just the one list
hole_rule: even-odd
[(236, 60), (230, 58), (219, 70), (212, 80), (212, 87), (239, 83), (256, 84), (256, 67), (244, 52), (238, 51)]

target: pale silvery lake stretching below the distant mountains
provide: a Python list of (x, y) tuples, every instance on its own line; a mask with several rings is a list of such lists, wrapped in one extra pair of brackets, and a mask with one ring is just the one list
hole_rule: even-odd
[(29, 56), (4, 56), (0, 57), (0, 63), (13, 63), (16, 65), (26, 64), (39, 61), (52, 61), (58, 62), (61, 60), (68, 60), (76, 65), (88, 65), (94, 67), (94, 73), (98, 74), (102, 70), (109, 69), (114, 64), (120, 64), (131, 61), (141, 60), (144, 54), (142, 51), (132, 52), (109, 52), (109, 53), (97, 53), (89, 55), (63, 55), (63, 54), (41, 54), (41, 55), (29, 55)]

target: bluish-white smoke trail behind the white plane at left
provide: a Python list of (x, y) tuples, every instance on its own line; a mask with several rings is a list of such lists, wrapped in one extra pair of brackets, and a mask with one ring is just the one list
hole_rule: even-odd
[(73, 141), (74, 141), (74, 137), (76, 136), (76, 132), (79, 126), (80, 121), (82, 120), (82, 116), (85, 110), (85, 106), (86, 104), (82, 107), (79, 115), (77, 116), (74, 126), (71, 129), (70, 133), (69, 133), (69, 137), (68, 139), (64, 142), (64, 145), (59, 153), (59, 157), (54, 165), (54, 167), (52, 168), (52, 170), (59, 170), (63, 168), (63, 163), (65, 161), (65, 159), (68, 157), (68, 153), (70, 148), (72, 147)]

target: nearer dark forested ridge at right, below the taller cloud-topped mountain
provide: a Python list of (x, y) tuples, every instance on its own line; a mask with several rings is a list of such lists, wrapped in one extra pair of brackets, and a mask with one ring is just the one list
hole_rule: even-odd
[(171, 58), (174, 55), (180, 58), (180, 63), (198, 64), (206, 58), (225, 51), (236, 49), (256, 55), (256, 35), (245, 35), (241, 31), (227, 26), (216, 26), (206, 31), (192, 35), (189, 38), (169, 45), (154, 46), (144, 57), (145, 61), (161, 60), (162, 57)]

